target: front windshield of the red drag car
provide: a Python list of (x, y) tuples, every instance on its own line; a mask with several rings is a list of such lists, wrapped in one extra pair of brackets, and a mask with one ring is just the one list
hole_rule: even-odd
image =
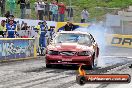
[(82, 45), (90, 45), (91, 41), (86, 34), (62, 33), (56, 37), (55, 43), (78, 43)]

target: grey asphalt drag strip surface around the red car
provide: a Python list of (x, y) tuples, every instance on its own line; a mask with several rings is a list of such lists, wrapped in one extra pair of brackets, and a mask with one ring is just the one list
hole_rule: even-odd
[[(99, 58), (99, 67), (87, 73), (120, 73), (132, 75), (132, 50), (106, 47)], [(0, 88), (132, 88), (129, 84), (85, 84), (76, 83), (78, 67), (45, 67), (45, 58), (0, 63)]]

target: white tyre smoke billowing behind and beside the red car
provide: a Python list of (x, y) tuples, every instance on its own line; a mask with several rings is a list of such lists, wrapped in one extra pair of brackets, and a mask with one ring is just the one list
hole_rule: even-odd
[(97, 23), (97, 24), (91, 24), (87, 28), (78, 28), (75, 31), (82, 31), (82, 32), (89, 32), (93, 35), (95, 38), (95, 41), (98, 43), (98, 46), (100, 48), (100, 55), (98, 58), (98, 67), (105, 67), (105, 62), (102, 58), (103, 54), (105, 53), (105, 32), (107, 31), (107, 28), (103, 25), (103, 22)]

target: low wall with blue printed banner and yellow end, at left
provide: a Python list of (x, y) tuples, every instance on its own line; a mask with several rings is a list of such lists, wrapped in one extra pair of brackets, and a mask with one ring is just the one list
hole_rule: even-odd
[(0, 62), (36, 57), (34, 38), (0, 38)]

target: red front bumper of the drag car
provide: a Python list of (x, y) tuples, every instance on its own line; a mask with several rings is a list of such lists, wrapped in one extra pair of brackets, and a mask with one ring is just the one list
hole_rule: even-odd
[(63, 64), (63, 65), (92, 65), (91, 56), (61, 56), (46, 55), (46, 64)]

